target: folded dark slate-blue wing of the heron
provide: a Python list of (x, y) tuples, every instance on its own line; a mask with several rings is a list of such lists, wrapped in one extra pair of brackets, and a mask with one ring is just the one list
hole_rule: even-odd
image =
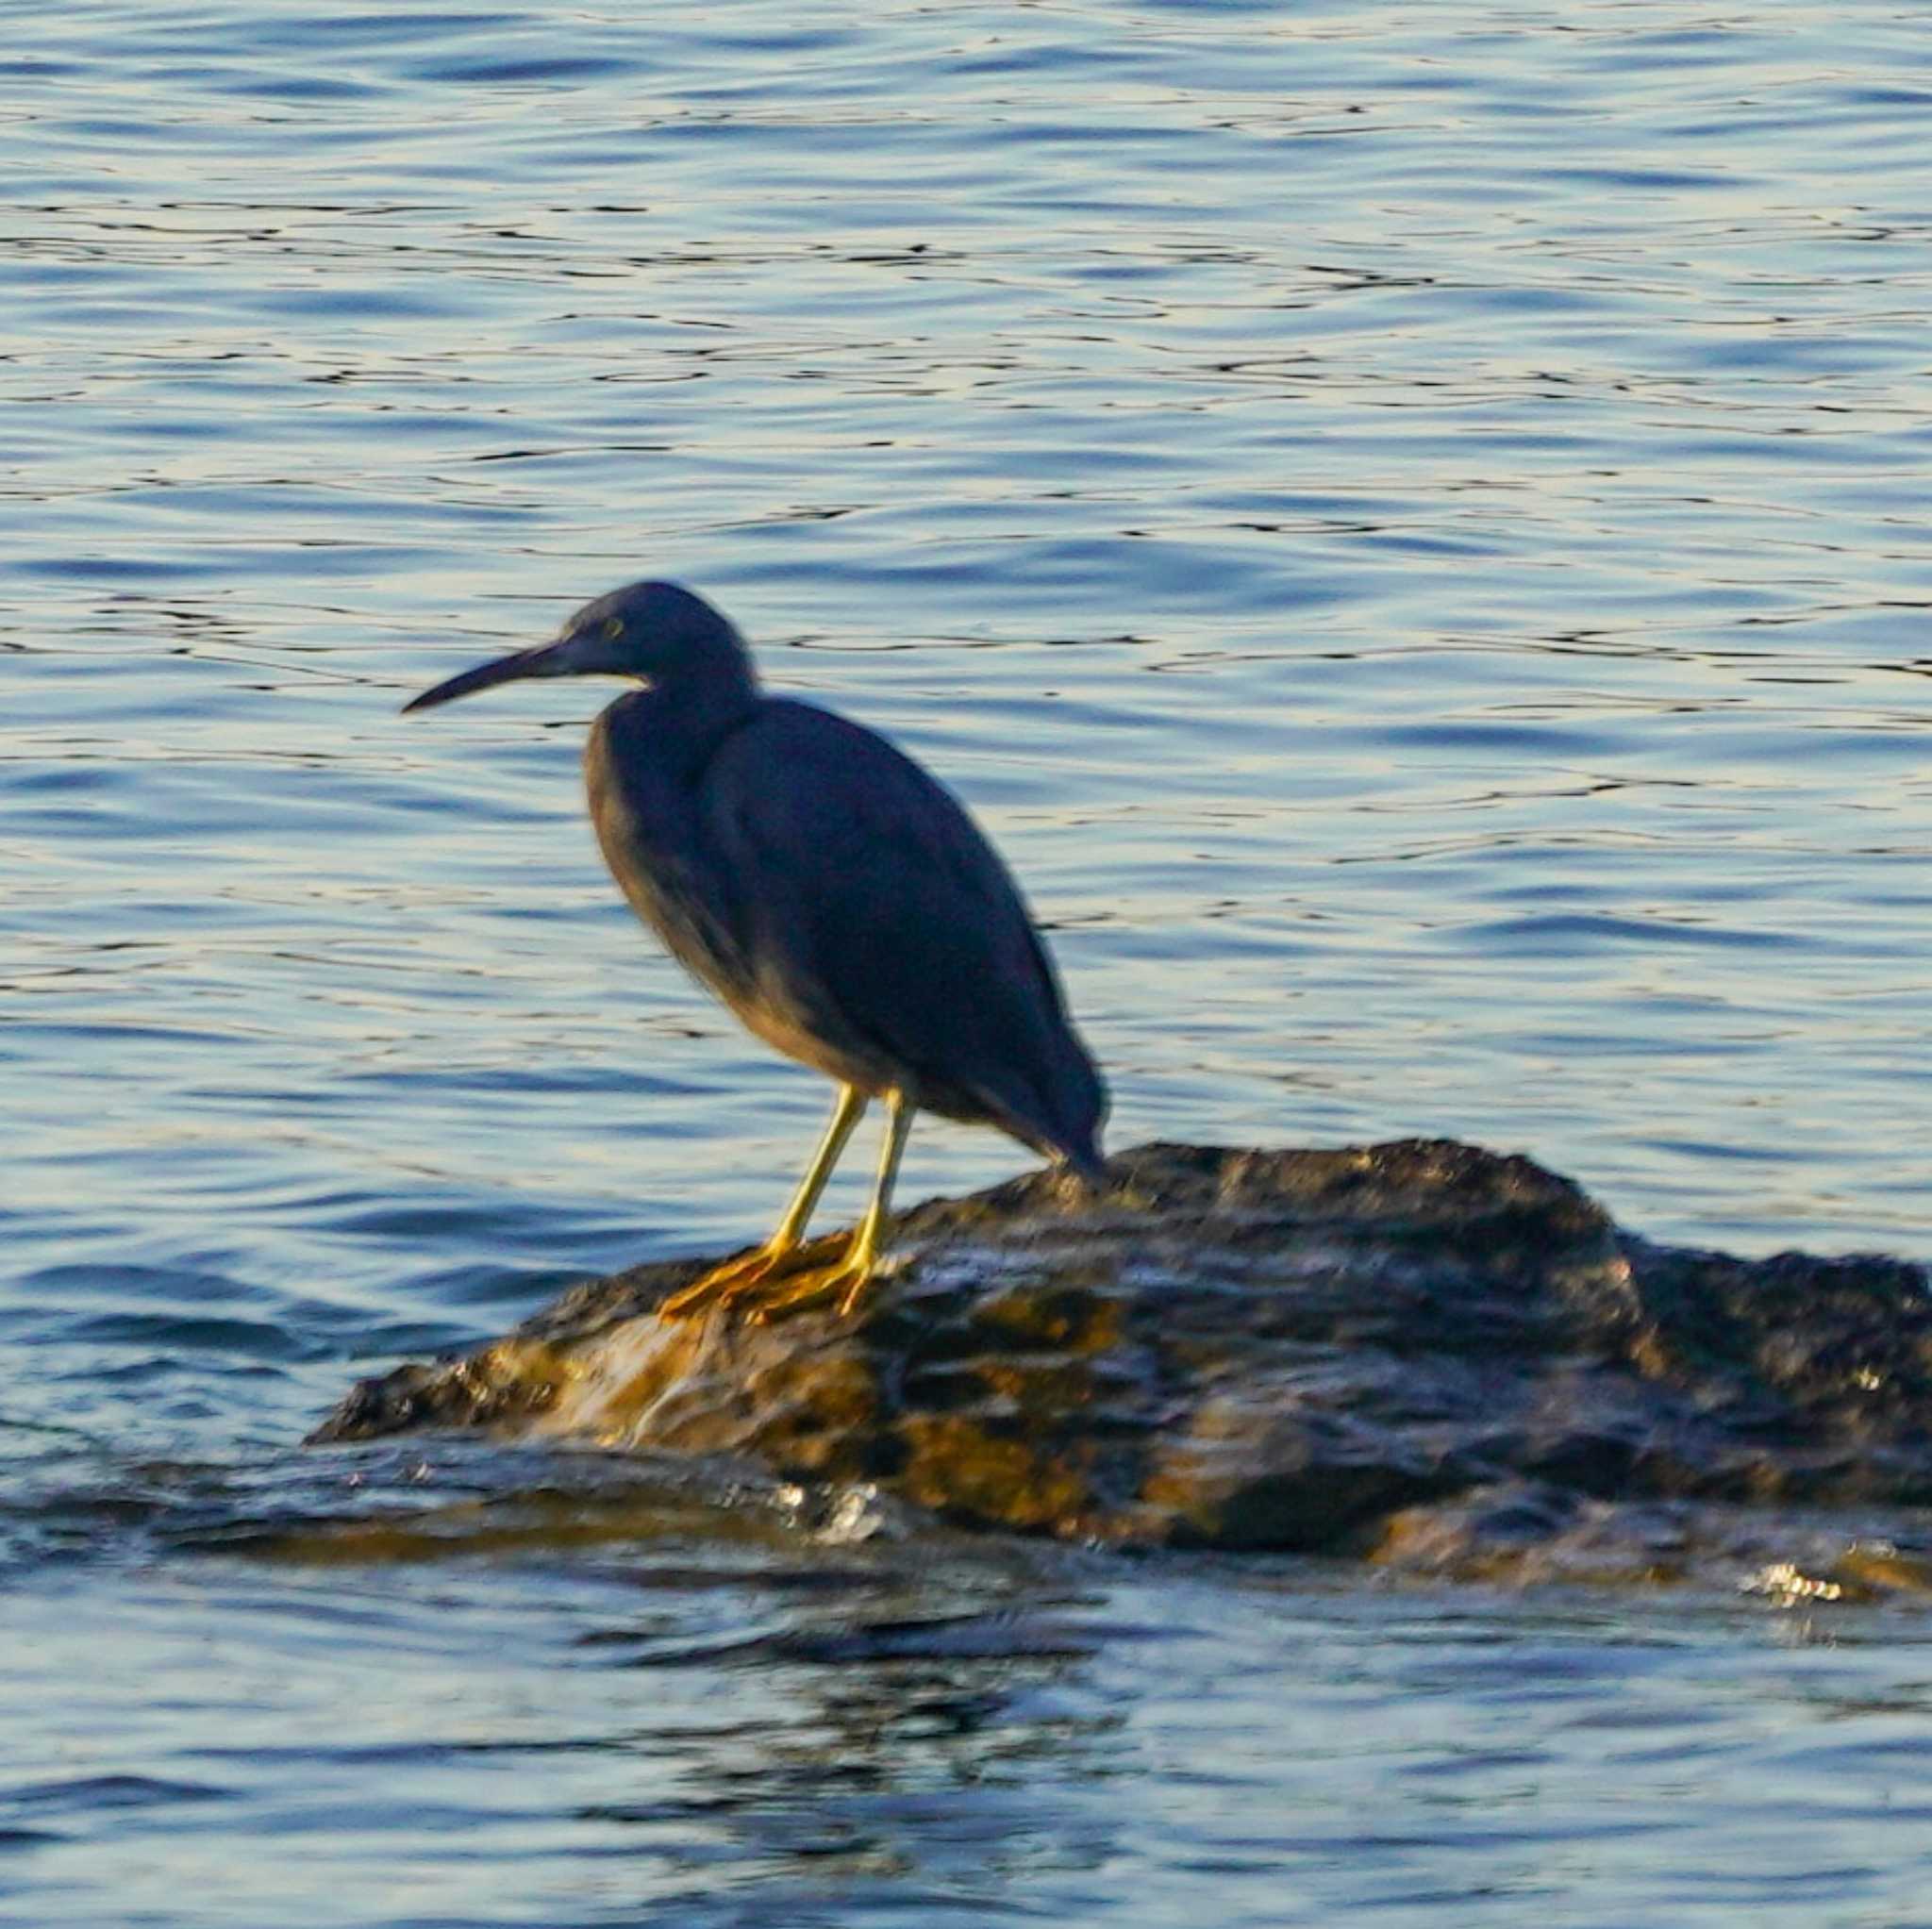
[(1090, 1151), (1094, 1068), (1012, 877), (947, 790), (873, 732), (771, 701), (703, 796), (740, 931), (794, 1010), (939, 1110)]

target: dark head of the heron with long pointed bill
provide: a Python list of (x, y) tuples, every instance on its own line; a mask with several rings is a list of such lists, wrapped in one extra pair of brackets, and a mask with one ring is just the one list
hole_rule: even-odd
[(481, 662), (425, 689), (404, 713), (452, 703), (524, 676), (632, 676), (645, 684), (750, 685), (744, 637), (705, 602), (676, 583), (628, 583), (585, 602), (554, 643)]

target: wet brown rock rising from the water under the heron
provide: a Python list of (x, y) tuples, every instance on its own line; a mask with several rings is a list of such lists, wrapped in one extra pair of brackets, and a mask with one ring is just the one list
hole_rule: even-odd
[(1453, 1141), (1148, 1145), (1109, 1176), (916, 1207), (852, 1321), (661, 1321), (711, 1259), (593, 1280), (313, 1439), (734, 1456), (987, 1527), (1503, 1580), (1772, 1570), (1783, 1510), (1818, 1572), (1918, 1572), (1886, 1535), (1932, 1502), (1922, 1267), (1654, 1245)]

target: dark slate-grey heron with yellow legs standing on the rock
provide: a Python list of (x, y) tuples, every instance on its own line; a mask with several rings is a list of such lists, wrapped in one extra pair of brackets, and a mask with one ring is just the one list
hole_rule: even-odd
[[(779, 1230), (665, 1301), (827, 1294), (850, 1313), (879, 1265), (914, 1112), (999, 1126), (1101, 1176), (1107, 1091), (1074, 1035), (1026, 904), (958, 799), (885, 738), (767, 697), (744, 637), (676, 583), (585, 602), (554, 643), (479, 664), (406, 711), (524, 676), (624, 676), (583, 747), (591, 823), (632, 909), (781, 1052), (838, 1083)], [(844, 1255), (798, 1257), (852, 1128), (885, 1099), (871, 1205)]]

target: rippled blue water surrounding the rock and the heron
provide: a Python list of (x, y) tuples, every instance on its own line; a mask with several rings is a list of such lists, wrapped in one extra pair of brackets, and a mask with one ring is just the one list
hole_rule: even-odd
[(1113, 1143), (1926, 1255), (1932, 12), (1760, 15), (10, 10), (4, 1919), (1932, 1921), (1917, 1612), (296, 1448), (817, 1128), (603, 691), (394, 714), (647, 570), (974, 801)]

